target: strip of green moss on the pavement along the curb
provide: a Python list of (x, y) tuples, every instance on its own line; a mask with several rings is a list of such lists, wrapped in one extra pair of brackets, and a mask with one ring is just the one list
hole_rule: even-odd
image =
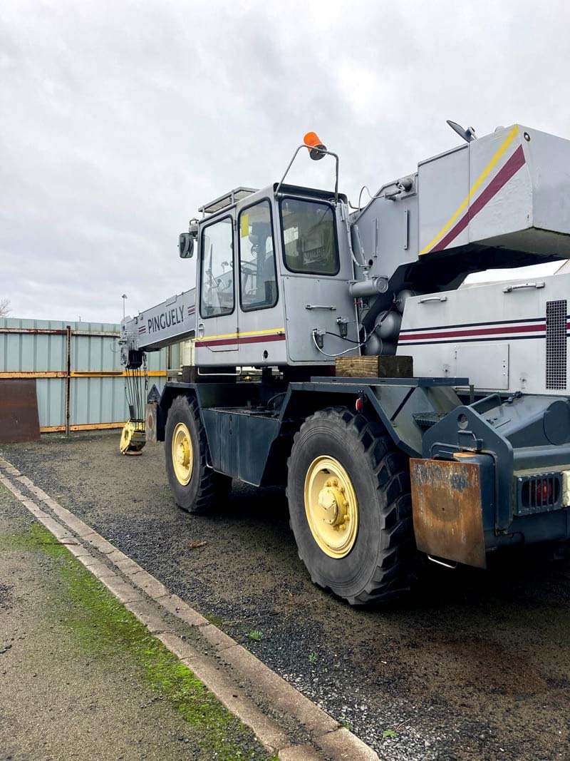
[(52, 559), (62, 588), (48, 614), (57, 616), (85, 651), (109, 664), (120, 658), (136, 669), (142, 682), (188, 722), (204, 757), (269, 761), (252, 731), (43, 526), (0, 534), (0, 549), (42, 552)]

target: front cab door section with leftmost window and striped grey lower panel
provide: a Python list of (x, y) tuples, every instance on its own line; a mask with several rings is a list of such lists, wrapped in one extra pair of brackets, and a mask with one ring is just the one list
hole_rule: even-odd
[(238, 349), (235, 283), (235, 211), (204, 224), (200, 232), (196, 364), (234, 364)]

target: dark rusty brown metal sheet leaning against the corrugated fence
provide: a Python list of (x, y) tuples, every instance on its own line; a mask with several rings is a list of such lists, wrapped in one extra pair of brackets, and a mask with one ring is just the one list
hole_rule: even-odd
[(39, 438), (36, 380), (1, 379), (0, 444), (37, 441)]

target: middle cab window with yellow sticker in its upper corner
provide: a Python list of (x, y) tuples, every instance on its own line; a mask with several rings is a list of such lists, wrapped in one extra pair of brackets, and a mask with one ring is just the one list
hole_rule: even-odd
[(277, 272), (271, 207), (268, 201), (239, 215), (239, 279), (244, 312), (277, 304)]

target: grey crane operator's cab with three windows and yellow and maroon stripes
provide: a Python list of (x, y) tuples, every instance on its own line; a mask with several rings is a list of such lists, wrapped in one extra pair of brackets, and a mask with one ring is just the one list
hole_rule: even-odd
[(238, 188), (201, 208), (198, 366), (328, 365), (355, 351), (347, 199), (276, 189)]

